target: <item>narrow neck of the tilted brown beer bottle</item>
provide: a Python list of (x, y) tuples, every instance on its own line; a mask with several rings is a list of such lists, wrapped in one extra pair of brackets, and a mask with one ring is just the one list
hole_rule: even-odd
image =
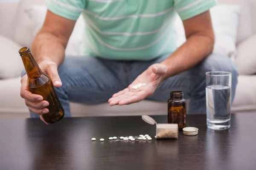
[(26, 74), (28, 75), (29, 79), (37, 79), (38, 77), (41, 77), (43, 73), (39, 68), (37, 62), (35, 61), (34, 57), (32, 56), (29, 48), (21, 48), (19, 50), (19, 54), (23, 61), (23, 65), (26, 69)]

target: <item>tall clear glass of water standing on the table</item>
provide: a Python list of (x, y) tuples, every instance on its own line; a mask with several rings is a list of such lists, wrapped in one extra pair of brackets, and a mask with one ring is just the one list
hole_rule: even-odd
[(231, 80), (229, 72), (206, 73), (207, 127), (212, 130), (230, 128)]

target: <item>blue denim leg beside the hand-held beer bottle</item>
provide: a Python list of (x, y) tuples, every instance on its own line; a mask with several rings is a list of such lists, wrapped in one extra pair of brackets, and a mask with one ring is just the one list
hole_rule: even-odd
[[(94, 57), (65, 57), (58, 68), (62, 86), (55, 88), (65, 117), (71, 116), (69, 102), (99, 104), (127, 87), (124, 65)], [(30, 112), (31, 117), (39, 117)]]

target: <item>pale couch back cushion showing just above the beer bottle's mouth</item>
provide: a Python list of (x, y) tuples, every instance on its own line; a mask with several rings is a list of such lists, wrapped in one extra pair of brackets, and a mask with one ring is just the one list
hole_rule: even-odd
[(39, 4), (44, 4), (44, 0), (20, 0), (18, 4), (14, 40), (20, 45), (30, 46), (33, 40), (31, 22), (27, 14), (25, 14), (25, 9)]

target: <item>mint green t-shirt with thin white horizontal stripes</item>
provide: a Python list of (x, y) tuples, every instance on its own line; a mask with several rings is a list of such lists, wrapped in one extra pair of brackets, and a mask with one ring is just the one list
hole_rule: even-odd
[(46, 0), (49, 11), (70, 20), (83, 15), (82, 54), (148, 60), (177, 49), (175, 15), (181, 20), (215, 6), (215, 0)]

